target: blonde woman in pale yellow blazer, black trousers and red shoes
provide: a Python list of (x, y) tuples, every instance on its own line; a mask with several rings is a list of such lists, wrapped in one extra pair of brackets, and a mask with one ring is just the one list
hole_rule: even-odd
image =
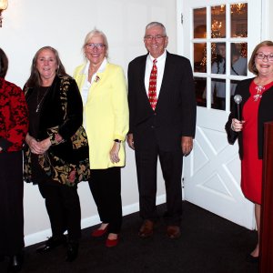
[(121, 66), (108, 63), (106, 35), (92, 30), (83, 45), (86, 63), (74, 77), (84, 104), (91, 177), (88, 181), (101, 225), (93, 237), (107, 234), (106, 247), (115, 247), (122, 223), (120, 168), (125, 166), (128, 131), (126, 78)]

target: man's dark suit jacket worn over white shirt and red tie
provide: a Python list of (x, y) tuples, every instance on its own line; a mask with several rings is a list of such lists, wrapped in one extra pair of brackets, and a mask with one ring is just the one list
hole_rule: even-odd
[(130, 128), (136, 150), (157, 141), (160, 149), (181, 149), (181, 136), (195, 136), (196, 97), (192, 68), (187, 58), (169, 54), (162, 85), (153, 111), (145, 87), (146, 56), (138, 56), (128, 66)]

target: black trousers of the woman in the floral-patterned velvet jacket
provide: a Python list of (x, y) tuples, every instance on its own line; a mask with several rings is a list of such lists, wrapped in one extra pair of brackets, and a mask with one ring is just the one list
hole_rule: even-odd
[(81, 238), (81, 208), (76, 187), (39, 182), (38, 187), (45, 198), (53, 238), (61, 238), (68, 232), (68, 240)]

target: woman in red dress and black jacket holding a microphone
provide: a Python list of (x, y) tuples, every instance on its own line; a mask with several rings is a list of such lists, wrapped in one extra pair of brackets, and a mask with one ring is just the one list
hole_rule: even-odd
[(237, 119), (236, 104), (231, 109), (226, 124), (227, 138), (233, 144), (238, 138), (241, 159), (241, 188), (255, 204), (258, 244), (248, 255), (248, 260), (258, 262), (260, 210), (262, 197), (263, 126), (273, 121), (273, 42), (258, 44), (248, 62), (248, 70), (256, 75), (241, 81), (235, 95), (242, 97), (242, 120)]

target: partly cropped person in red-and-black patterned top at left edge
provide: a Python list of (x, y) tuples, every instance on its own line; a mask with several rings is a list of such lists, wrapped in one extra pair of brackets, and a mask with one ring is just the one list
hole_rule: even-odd
[(28, 126), (25, 96), (5, 80), (8, 59), (0, 48), (0, 261), (18, 272), (24, 259), (23, 155)]

